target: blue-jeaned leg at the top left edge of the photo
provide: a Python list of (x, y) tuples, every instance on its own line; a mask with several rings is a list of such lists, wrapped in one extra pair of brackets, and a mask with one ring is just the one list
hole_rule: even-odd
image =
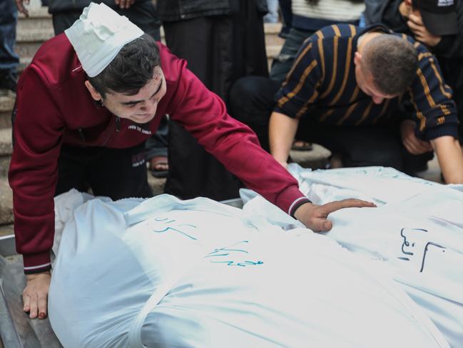
[(14, 52), (18, 11), (14, 0), (0, 1), (0, 96), (16, 92), (19, 56)]

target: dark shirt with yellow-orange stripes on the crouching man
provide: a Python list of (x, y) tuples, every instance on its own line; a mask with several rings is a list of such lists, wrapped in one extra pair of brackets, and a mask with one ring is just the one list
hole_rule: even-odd
[[(406, 94), (375, 104), (357, 85), (354, 54), (357, 39), (368, 31), (384, 31), (410, 41), (418, 51), (419, 69)], [(402, 101), (414, 106), (418, 136), (457, 137), (457, 109), (452, 89), (444, 83), (439, 65), (426, 47), (385, 26), (359, 31), (350, 24), (327, 26), (300, 47), (286, 81), (276, 94), (275, 111), (299, 119), (315, 117), (332, 125), (357, 126), (387, 123)]]

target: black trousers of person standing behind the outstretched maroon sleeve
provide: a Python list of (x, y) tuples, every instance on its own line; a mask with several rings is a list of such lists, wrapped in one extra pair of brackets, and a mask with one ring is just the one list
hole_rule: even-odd
[[(262, 14), (255, 1), (239, 1), (235, 15), (163, 23), (173, 54), (188, 61), (188, 69), (225, 103), (240, 76), (268, 75)], [(166, 193), (183, 199), (238, 197), (240, 181), (175, 121), (169, 121), (168, 154)]]

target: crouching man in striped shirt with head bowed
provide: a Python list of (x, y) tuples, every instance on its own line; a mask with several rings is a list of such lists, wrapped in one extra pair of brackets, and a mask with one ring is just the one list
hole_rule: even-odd
[[(283, 85), (247, 77), (231, 98), (235, 117), (284, 166), (296, 136), (340, 154), (345, 166), (412, 171), (434, 150), (446, 182), (463, 183), (452, 90), (425, 46), (385, 26), (327, 26), (302, 44)], [(404, 146), (400, 128), (410, 121)]]

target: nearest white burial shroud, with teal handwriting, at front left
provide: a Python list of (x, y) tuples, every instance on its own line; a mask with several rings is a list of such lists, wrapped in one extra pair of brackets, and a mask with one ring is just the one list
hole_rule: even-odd
[(330, 238), (209, 199), (91, 198), (56, 198), (64, 347), (449, 347), (387, 271)]

